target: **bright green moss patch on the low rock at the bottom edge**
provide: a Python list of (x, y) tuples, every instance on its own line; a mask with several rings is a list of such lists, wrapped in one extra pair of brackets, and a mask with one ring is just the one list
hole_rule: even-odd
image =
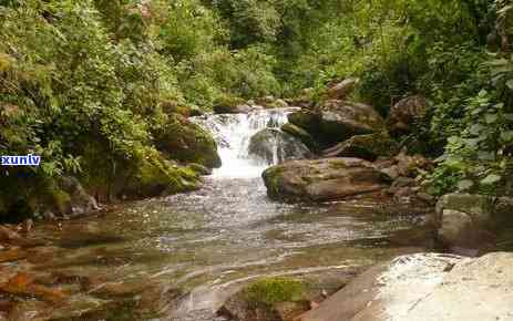
[(289, 278), (268, 278), (256, 281), (245, 290), (250, 304), (271, 307), (278, 302), (300, 301), (305, 292), (301, 281)]

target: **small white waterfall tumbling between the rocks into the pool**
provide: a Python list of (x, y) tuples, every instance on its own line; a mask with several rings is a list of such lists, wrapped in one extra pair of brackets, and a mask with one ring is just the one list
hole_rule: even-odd
[[(248, 114), (220, 114), (194, 117), (217, 142), (223, 166), (214, 177), (257, 177), (269, 165), (248, 153), (249, 139), (265, 128), (279, 128), (287, 114), (297, 108), (257, 110)], [(275, 157), (278, 159), (278, 157)]]

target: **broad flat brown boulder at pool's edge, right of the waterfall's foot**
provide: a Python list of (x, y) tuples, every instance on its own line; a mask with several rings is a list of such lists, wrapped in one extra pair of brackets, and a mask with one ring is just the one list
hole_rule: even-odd
[(264, 172), (267, 194), (275, 199), (324, 201), (372, 194), (389, 177), (359, 158), (293, 161)]

